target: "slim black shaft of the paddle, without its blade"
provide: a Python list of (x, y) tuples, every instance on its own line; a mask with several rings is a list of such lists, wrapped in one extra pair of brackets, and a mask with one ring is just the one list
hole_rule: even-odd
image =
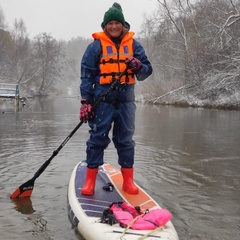
[[(126, 67), (126, 69), (118, 76), (118, 79), (113, 81), (110, 85), (110, 87), (103, 93), (103, 95), (101, 97), (99, 97), (93, 104), (93, 110), (99, 105), (99, 103), (103, 100), (103, 98), (113, 90), (113, 88), (117, 85), (120, 84), (120, 79), (121, 77), (127, 72), (128, 67)], [(70, 140), (70, 138), (74, 135), (74, 133), (82, 126), (83, 122), (81, 121), (80, 123), (78, 123), (78, 125), (72, 130), (72, 132), (66, 137), (66, 139), (62, 142), (62, 144), (55, 150), (53, 151), (52, 156), (43, 163), (43, 165), (37, 170), (37, 172), (34, 174), (32, 180), (35, 180), (36, 178), (38, 178), (43, 172), (44, 170), (47, 168), (47, 166), (50, 164), (50, 162), (52, 161), (52, 159), (58, 155), (58, 153), (60, 152), (60, 150), (66, 145), (66, 143)]]

